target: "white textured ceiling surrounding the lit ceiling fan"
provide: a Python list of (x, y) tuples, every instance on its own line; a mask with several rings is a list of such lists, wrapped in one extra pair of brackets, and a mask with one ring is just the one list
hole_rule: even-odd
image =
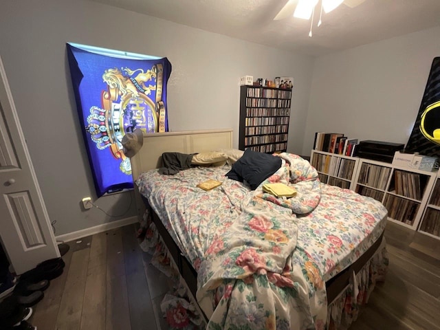
[[(274, 21), (287, 0), (95, 0), (283, 50), (323, 55), (440, 25), (440, 0), (366, 0), (310, 21)], [(319, 5), (319, 3), (318, 3)]]

